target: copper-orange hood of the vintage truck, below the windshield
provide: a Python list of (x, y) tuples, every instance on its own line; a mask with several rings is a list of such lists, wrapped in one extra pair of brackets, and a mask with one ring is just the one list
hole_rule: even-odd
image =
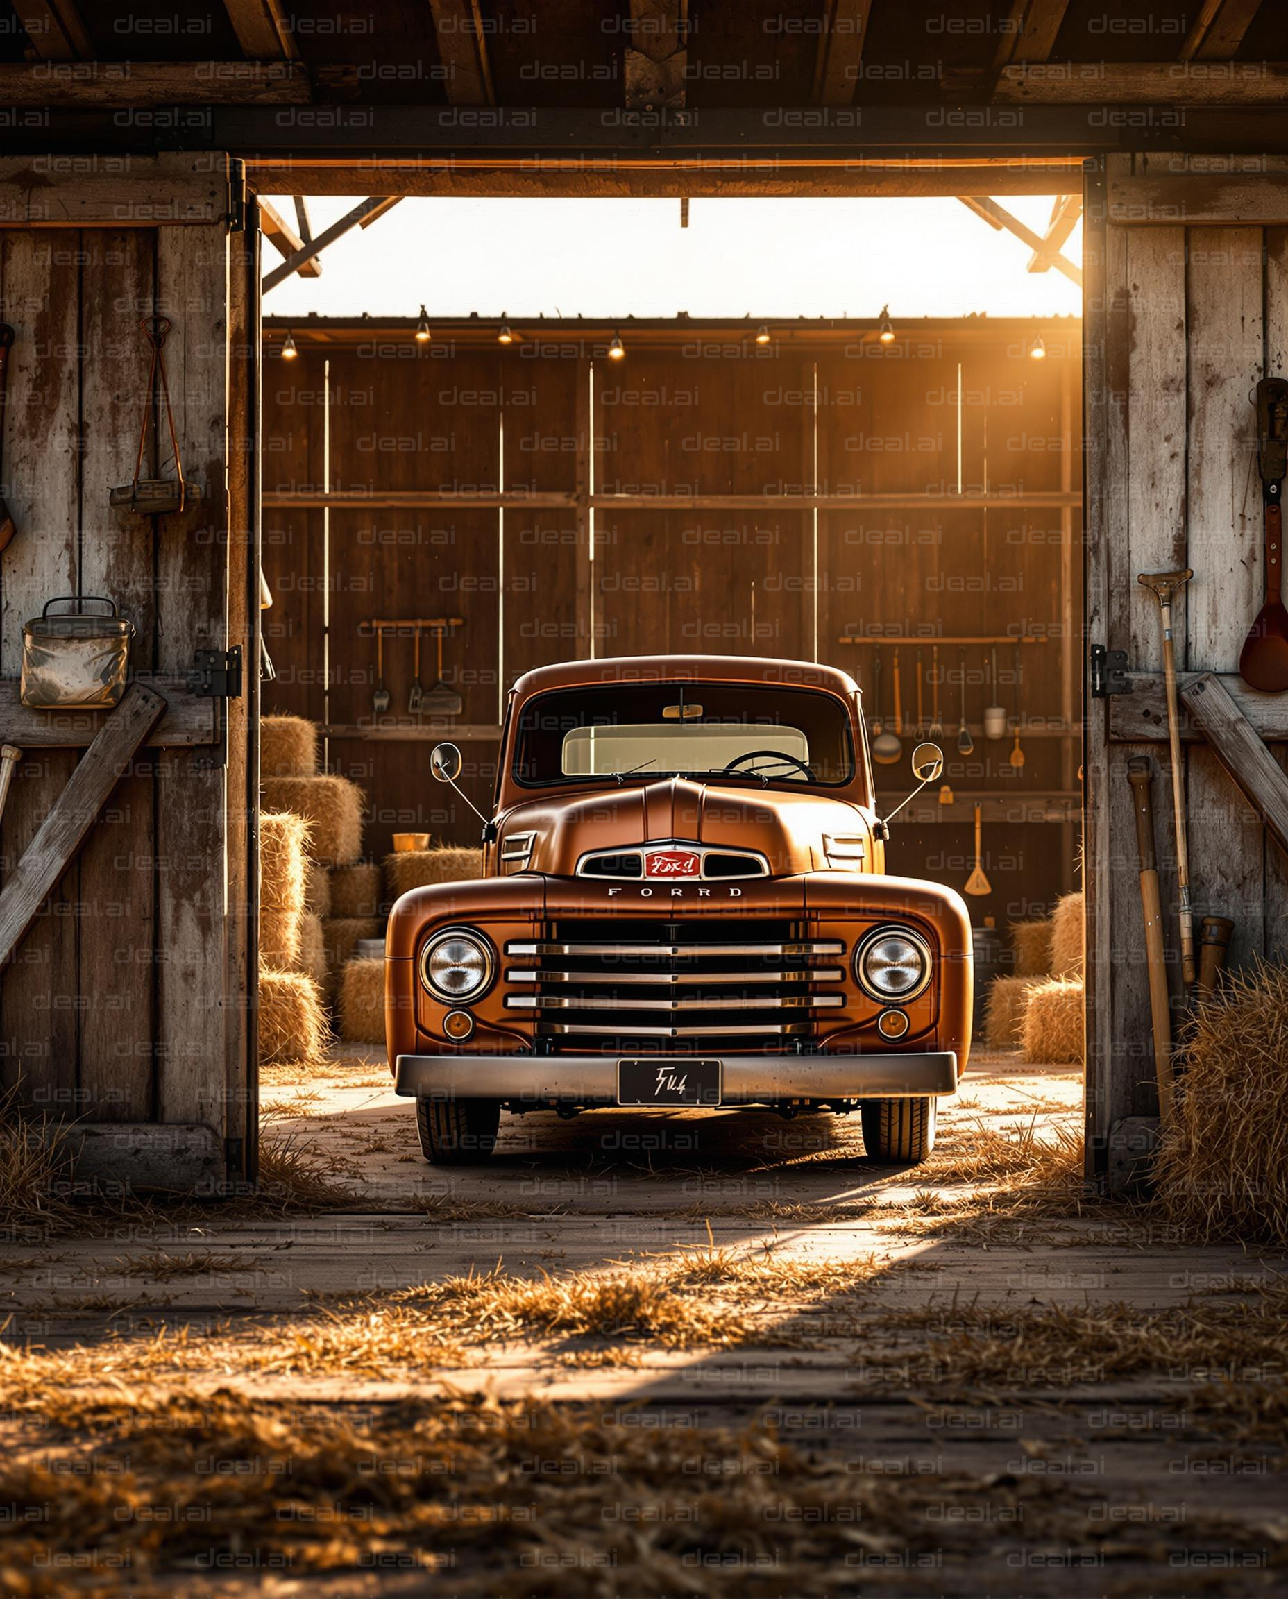
[[(825, 798), (818, 790), (797, 795), (687, 777), (515, 806), (500, 822), (500, 852), (507, 839), (523, 833), (535, 835), (527, 870), (553, 876), (574, 876), (577, 862), (594, 851), (671, 839), (754, 851), (775, 878), (841, 865), (828, 857), (829, 836), (861, 841), (850, 846), (853, 854), (844, 862), (849, 870), (871, 870), (873, 863), (871, 815), (860, 806)], [(855, 859), (860, 847), (861, 862)]]

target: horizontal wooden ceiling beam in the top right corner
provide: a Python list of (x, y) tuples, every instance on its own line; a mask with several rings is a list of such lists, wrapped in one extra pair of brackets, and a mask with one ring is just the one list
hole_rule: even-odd
[(1004, 67), (999, 106), (1288, 106), (1282, 61), (1061, 61)]

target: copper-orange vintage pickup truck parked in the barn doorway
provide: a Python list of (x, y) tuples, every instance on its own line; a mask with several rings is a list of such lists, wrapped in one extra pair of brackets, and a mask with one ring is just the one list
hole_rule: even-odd
[[(393, 907), (385, 1017), (425, 1158), (500, 1111), (861, 1115), (924, 1159), (970, 1049), (949, 887), (885, 875), (858, 686), (797, 660), (646, 656), (529, 672), (505, 715), (484, 876)], [(943, 768), (912, 752), (919, 785)], [(916, 790), (914, 790), (916, 792)]]

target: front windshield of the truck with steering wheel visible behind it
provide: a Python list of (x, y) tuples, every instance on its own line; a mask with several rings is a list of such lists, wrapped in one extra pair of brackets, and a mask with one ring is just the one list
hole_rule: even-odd
[(773, 683), (604, 683), (523, 708), (519, 784), (671, 776), (847, 784), (850, 718), (831, 694)]

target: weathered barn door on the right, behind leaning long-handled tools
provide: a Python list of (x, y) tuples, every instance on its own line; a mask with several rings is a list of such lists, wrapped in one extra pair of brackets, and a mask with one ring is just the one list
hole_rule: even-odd
[[(1238, 166), (1250, 169), (1240, 176)], [(1087, 644), (1125, 651), (1131, 694), (1087, 699), (1088, 1166), (1111, 1183), (1157, 1115), (1127, 763), (1154, 766), (1173, 1003), (1175, 831), (1159, 606), (1136, 579), (1191, 566), (1173, 633), (1183, 675), (1214, 672), (1283, 763), (1288, 716), (1246, 691), (1238, 652), (1262, 598), (1253, 390), (1288, 360), (1285, 163), (1109, 157), (1087, 193)], [(1288, 953), (1288, 860), (1213, 752), (1184, 748), (1195, 927), (1230, 916), (1234, 966)]]

